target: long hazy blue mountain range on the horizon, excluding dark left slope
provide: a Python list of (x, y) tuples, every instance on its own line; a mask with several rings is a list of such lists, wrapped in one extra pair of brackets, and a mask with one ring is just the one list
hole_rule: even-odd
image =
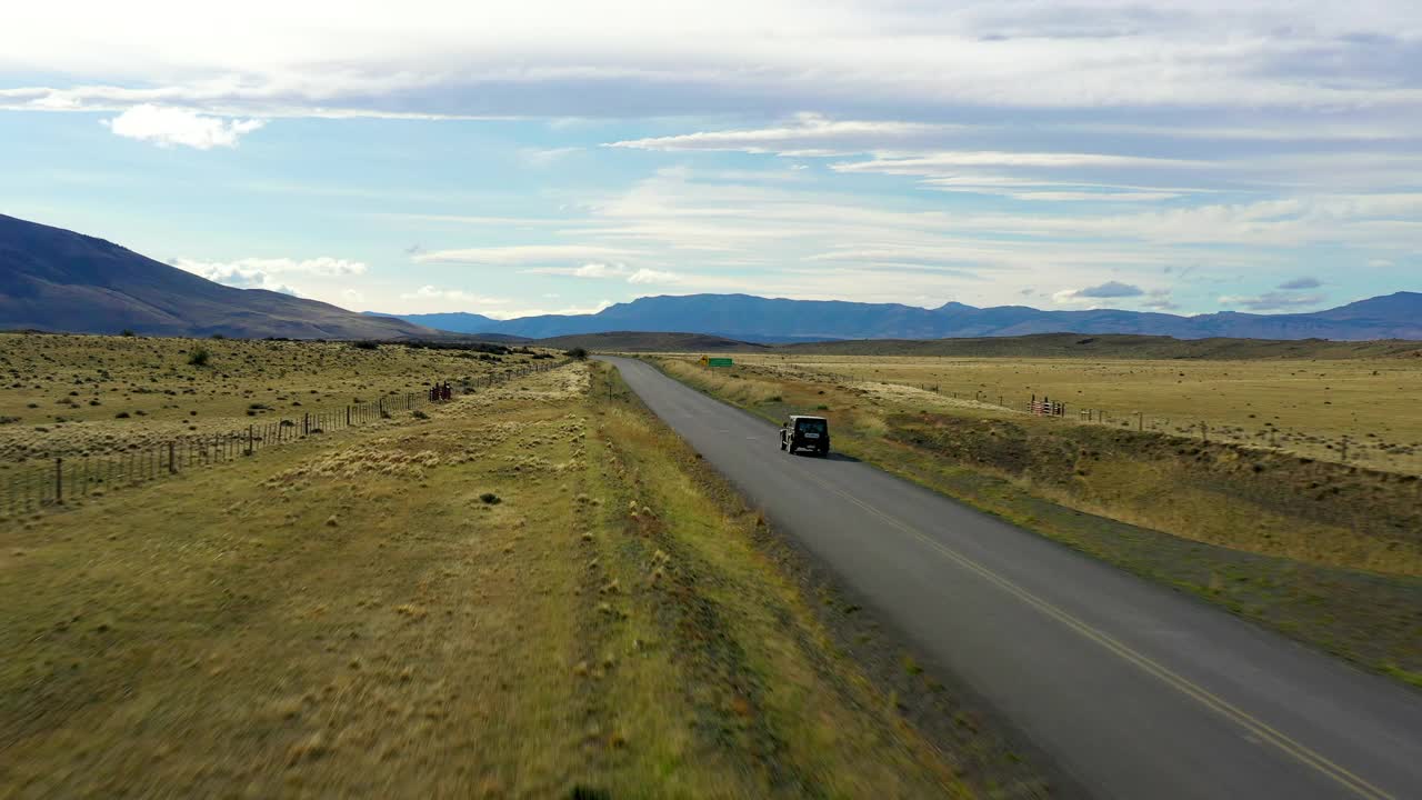
[(695, 332), (745, 342), (839, 339), (957, 339), (1032, 333), (1138, 333), (1176, 339), (1422, 339), (1422, 293), (1398, 292), (1313, 313), (1220, 312), (1177, 316), (1129, 310), (1052, 312), (1027, 306), (936, 309), (897, 303), (786, 300), (751, 295), (641, 298), (594, 315), (545, 315), (495, 320), (481, 315), (402, 315), (456, 330), (546, 339), (607, 332)]

